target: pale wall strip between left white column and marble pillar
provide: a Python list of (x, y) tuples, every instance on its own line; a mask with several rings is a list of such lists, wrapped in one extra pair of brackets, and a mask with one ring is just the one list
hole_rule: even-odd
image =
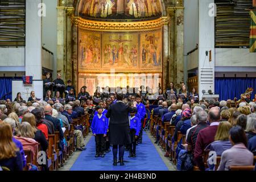
[(53, 78), (55, 78), (57, 63), (57, 0), (42, 0), (42, 2), (46, 4), (46, 16), (42, 20), (42, 44), (53, 52), (52, 69)]

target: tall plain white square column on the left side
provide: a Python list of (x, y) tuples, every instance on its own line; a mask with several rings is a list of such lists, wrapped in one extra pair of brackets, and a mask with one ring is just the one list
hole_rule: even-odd
[(41, 0), (26, 0), (26, 75), (42, 79), (42, 17), (38, 15)]

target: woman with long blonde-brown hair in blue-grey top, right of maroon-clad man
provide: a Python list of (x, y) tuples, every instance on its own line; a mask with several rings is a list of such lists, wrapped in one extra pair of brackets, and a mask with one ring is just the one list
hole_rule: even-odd
[[(217, 156), (221, 156), (222, 152), (231, 148), (232, 144), (229, 141), (229, 130), (231, 127), (228, 121), (221, 121), (214, 138), (215, 141), (210, 143), (205, 150), (215, 151)], [(210, 169), (213, 169), (213, 167), (214, 165), (210, 165)]]

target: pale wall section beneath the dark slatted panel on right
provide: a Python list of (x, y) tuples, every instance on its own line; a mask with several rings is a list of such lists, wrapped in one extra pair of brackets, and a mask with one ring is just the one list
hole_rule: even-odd
[(256, 53), (249, 49), (216, 48), (215, 56), (216, 67), (256, 67)]

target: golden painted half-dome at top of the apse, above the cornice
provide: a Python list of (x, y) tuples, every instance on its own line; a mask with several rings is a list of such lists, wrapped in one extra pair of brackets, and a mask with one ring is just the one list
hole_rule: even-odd
[(90, 18), (136, 19), (160, 16), (160, 0), (85, 0), (81, 1), (80, 14)]

